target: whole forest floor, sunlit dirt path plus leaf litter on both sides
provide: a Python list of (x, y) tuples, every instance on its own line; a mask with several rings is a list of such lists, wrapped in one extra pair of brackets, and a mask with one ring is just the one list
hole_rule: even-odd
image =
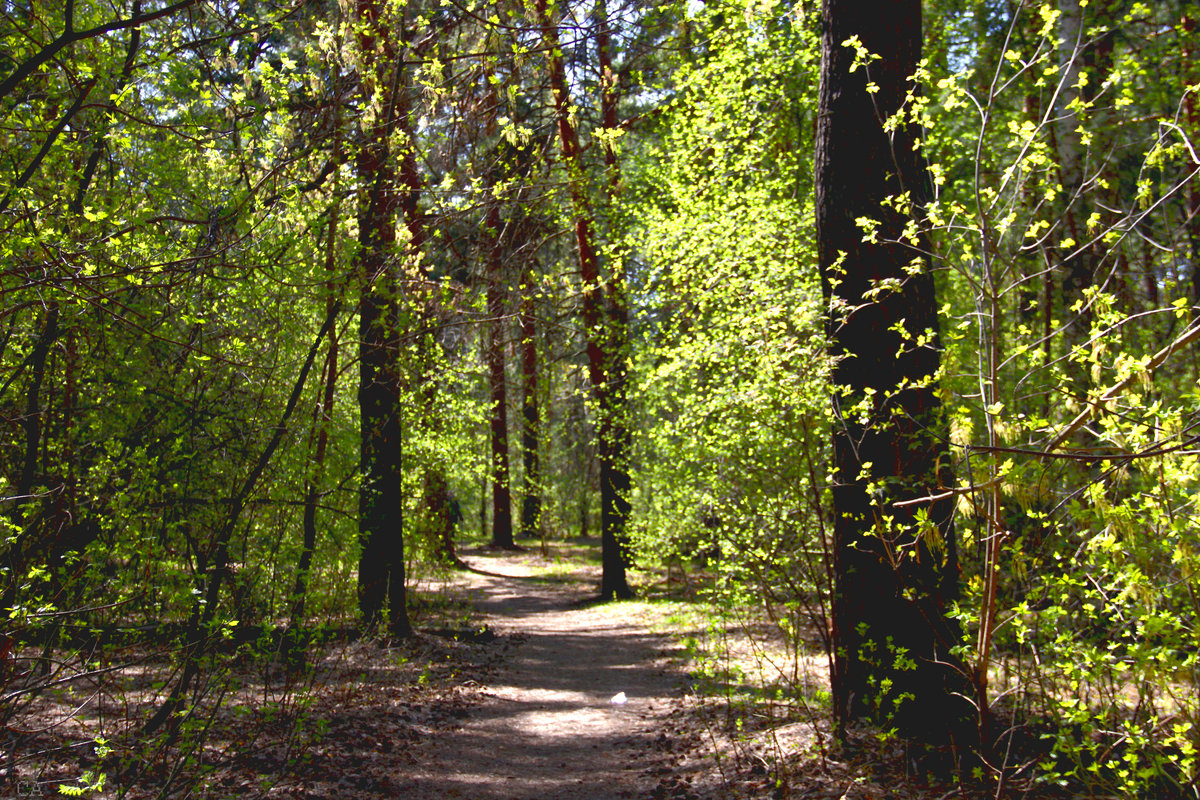
[[(85, 756), (36, 774), (13, 770), (7, 787), (17, 796), (59, 796), (82, 771), (103, 769), (107, 786), (86, 796), (954, 796), (884, 769), (888, 760), (902, 769), (902, 753), (822, 753), (820, 709), (780, 711), (761, 687), (746, 694), (738, 680), (722, 684), (712, 664), (706, 672), (696, 661), (707, 646), (697, 642), (712, 631), (703, 607), (595, 602), (594, 551), (595, 542), (557, 553), (466, 551), (472, 572), (416, 587), (418, 636), (323, 645), (304, 685), (248, 660), (221, 690), (224, 700), (186, 759), (163, 751), (160, 760), (128, 758), (110, 771), (112, 756), (86, 756), (95, 753), (85, 745), (98, 735), (96, 720), (138, 716), (130, 714), (138, 705), (132, 687), (98, 693), (95, 708), (77, 706), (58, 728), (76, 742), (67, 752)], [(730, 633), (721, 644), (737, 649)], [(46, 720), (68, 710), (53, 697), (43, 703)], [(121, 736), (113, 739), (119, 751)]]

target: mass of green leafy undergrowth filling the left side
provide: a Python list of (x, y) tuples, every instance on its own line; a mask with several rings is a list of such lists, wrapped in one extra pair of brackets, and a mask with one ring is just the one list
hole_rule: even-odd
[[(28, 30), (19, 13), (6, 13), (0, 30), (5, 76), (61, 24), (61, 4), (25, 11)], [(130, 8), (84, 4), (76, 13), (78, 30)], [(10, 571), (0, 591), (14, 587), (14, 608), (54, 595), (64, 612), (104, 599), (136, 622), (187, 616), (214, 531), (274, 433), (316, 337), (326, 281), (342, 277), (325, 267), (330, 204), (294, 191), (324, 163), (292, 107), (316, 71), (302, 71), (294, 24), (247, 14), (175, 14), (137, 36), (126, 28), (80, 41), (0, 100), (6, 178), (29, 174), (0, 223), (6, 419), (34, 397), (23, 363), (49, 309), (59, 314), (36, 398), (37, 499), (20, 521), (42, 527), (0, 553), (18, 566), (32, 563), (18, 570), (28, 575), (44, 557), (30, 542), (62, 519), (100, 530), (88, 557), (55, 567), (53, 579)], [(43, 29), (37, 19), (53, 24)], [(256, 35), (234, 35), (248, 29)], [(88, 102), (52, 142), (48, 124), (92, 78)], [(6, 191), (14, 184), (6, 180)], [(334, 224), (344, 222), (335, 215)], [(335, 401), (332, 417), (353, 432), (347, 399)], [(301, 427), (287, 445), (304, 441)], [(0, 457), (5, 498), (20, 480), (23, 446), (12, 441)], [(354, 438), (335, 449), (340, 470), (353, 471)], [(275, 603), (264, 613), (286, 607), (283, 593), (268, 587), (295, 561), (294, 507), (280, 499), (302, 494), (305, 447), (284, 446), (278, 463), (236, 541), (235, 559), (260, 565), (241, 579)], [(343, 512), (323, 540), (328, 564), (352, 542), (340, 521), (353, 494), (323, 499)], [(11, 504), (5, 512), (6, 524), (17, 519)], [(13, 618), (8, 630), (35, 624)]]

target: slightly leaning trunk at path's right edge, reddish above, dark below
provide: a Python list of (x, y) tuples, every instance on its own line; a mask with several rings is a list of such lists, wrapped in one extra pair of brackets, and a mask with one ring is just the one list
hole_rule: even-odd
[[(606, 17), (606, 14), (602, 14)], [(550, 59), (550, 84), (554, 97), (559, 144), (568, 172), (571, 206), (575, 216), (575, 243), (583, 281), (583, 326), (587, 337), (588, 377), (599, 414), (600, 501), (601, 501), (601, 563), (600, 595), (605, 600), (632, 597), (626, 578), (628, 553), (625, 521), (629, 518), (629, 428), (625, 413), (625, 312), (624, 303), (606, 308), (606, 295), (613, 291), (600, 277), (600, 254), (593, 236), (593, 211), (583, 185), (583, 158), (578, 133), (571, 115), (571, 100), (566, 86), (566, 71), (559, 48), (558, 32), (551, 19), (547, 0), (538, 0), (538, 19)], [(605, 22), (605, 28), (606, 28)], [(601, 43), (600, 59), (610, 58), (608, 47)], [(616, 115), (612, 102), (611, 65), (601, 94), (602, 115), (607, 125)], [(613, 282), (613, 283), (619, 283)], [(617, 291), (620, 289), (617, 288)]]

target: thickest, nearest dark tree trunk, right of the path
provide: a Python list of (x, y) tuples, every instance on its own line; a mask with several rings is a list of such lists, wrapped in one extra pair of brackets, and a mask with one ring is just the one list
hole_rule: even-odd
[[(878, 60), (851, 72), (852, 37)], [(826, 0), (816, 212), (834, 359), (834, 717), (895, 726), (931, 745), (973, 746), (971, 684), (950, 648), (953, 501), (902, 500), (950, 485), (937, 392), (937, 301), (928, 247), (904, 237), (926, 175), (917, 131), (882, 121), (920, 58), (920, 0)], [(869, 79), (877, 86), (866, 90)], [(907, 210), (884, 200), (911, 192)], [(878, 221), (864, 241), (858, 219)], [(919, 341), (918, 341), (919, 339)]]

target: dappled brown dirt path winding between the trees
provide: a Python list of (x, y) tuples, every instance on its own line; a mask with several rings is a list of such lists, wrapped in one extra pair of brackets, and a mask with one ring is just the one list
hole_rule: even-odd
[[(548, 563), (533, 555), (466, 560), (493, 573), (469, 573), (467, 588), (488, 628), (512, 646), (462, 726), (413, 753), (398, 796), (689, 796), (673, 752), (690, 747), (668, 721), (684, 682), (679, 650), (649, 630), (644, 604), (590, 602), (599, 573), (577, 564), (547, 578)], [(612, 703), (618, 692), (625, 704)]]

